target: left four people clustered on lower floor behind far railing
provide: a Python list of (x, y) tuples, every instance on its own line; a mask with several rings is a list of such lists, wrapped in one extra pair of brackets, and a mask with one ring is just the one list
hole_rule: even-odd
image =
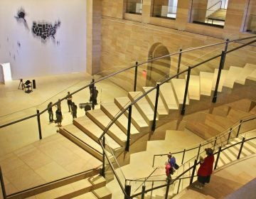
[[(72, 102), (72, 95), (70, 95), (70, 92), (68, 92), (68, 95), (65, 97), (67, 99), (68, 103), (68, 112), (71, 112), (73, 119), (77, 118), (77, 109), (78, 106), (75, 104), (75, 102)], [(53, 119), (53, 102), (50, 102), (48, 104), (48, 114), (49, 114), (49, 122), (55, 122), (58, 124), (58, 127), (61, 127), (61, 122), (63, 121), (63, 114), (61, 112), (61, 101), (58, 99), (58, 102), (56, 103), (56, 111), (55, 111), (55, 118)]]

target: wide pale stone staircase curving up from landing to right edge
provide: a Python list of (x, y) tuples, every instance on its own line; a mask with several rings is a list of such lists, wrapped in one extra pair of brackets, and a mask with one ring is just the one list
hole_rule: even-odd
[[(223, 105), (223, 109), (219, 109), (219, 111), (214, 109), (213, 113), (204, 113), (203, 117), (202, 113), (195, 113), (206, 109), (213, 110), (211, 96), (215, 89), (217, 74), (218, 70), (214, 72), (200, 72), (200, 75), (191, 75), (188, 87), (186, 100), (186, 114), (188, 116), (183, 118), (186, 119), (186, 127), (194, 132), (199, 131), (203, 139), (216, 136), (220, 131), (237, 122), (238, 117), (235, 116), (240, 115), (239, 111), (237, 109), (230, 111), (232, 106), (230, 105), (231, 108), (225, 107), (223, 104), (230, 104), (240, 99), (248, 98), (245, 99), (248, 101), (245, 107), (249, 107), (250, 109), (248, 114), (255, 114), (255, 102), (251, 100), (256, 99), (256, 65), (252, 64), (246, 64), (244, 68), (231, 66), (229, 70), (223, 70), (218, 87), (218, 102), (214, 105), (214, 107)], [(181, 104), (183, 104), (183, 90), (185, 85), (186, 77), (185, 79), (173, 79), (161, 85), (156, 117), (157, 128), (161, 128), (161, 126), (168, 122), (174, 122), (176, 124), (174, 126), (178, 126), (178, 119), (180, 119), (179, 109)], [(243, 87), (241, 89), (242, 85)], [(59, 132), (90, 153), (93, 157), (102, 160), (102, 149), (99, 147), (100, 145), (97, 141), (102, 131), (108, 127), (114, 116), (119, 114), (124, 107), (127, 107), (130, 102), (133, 102), (151, 88), (143, 87), (142, 91), (128, 92), (127, 97), (116, 97), (114, 102), (101, 104), (100, 109), (87, 111), (84, 117), (74, 119), (73, 124), (61, 127)], [(117, 122), (110, 127), (110, 130), (106, 134), (107, 153), (110, 153), (108, 154), (110, 157), (114, 154), (117, 161), (119, 161), (119, 166), (129, 163), (130, 154), (146, 150), (146, 141), (149, 139), (148, 134), (154, 117), (155, 92), (155, 90), (150, 92), (132, 107), (129, 153), (124, 153), (124, 146), (127, 141), (128, 112), (125, 112), (122, 117), (119, 117)], [(242, 95), (241, 92), (243, 93)], [(236, 106), (240, 106), (240, 104)], [(230, 114), (233, 113), (233, 120), (223, 119), (225, 111), (228, 111)], [(227, 115), (231, 117), (230, 114)], [(196, 125), (195, 122), (189, 122), (191, 117), (199, 119), (199, 122)], [(215, 124), (215, 122), (218, 123)], [(201, 129), (209, 133), (203, 134), (206, 131), (200, 131)], [(163, 139), (164, 136), (161, 137), (161, 135), (154, 134), (151, 138)], [(111, 173), (111, 171), (109, 172)]]

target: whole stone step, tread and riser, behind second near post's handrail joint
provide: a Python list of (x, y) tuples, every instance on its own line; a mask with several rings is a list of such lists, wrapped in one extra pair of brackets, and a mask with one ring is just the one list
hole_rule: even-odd
[[(131, 102), (129, 97), (116, 97), (114, 98), (114, 103), (117, 104), (119, 109), (123, 109), (127, 107), (127, 105)], [(128, 112), (125, 112), (128, 117)], [(140, 132), (146, 132), (149, 130), (149, 125), (146, 123), (145, 119), (142, 117), (142, 114), (139, 113), (137, 107), (132, 106), (132, 124), (136, 127)]]

